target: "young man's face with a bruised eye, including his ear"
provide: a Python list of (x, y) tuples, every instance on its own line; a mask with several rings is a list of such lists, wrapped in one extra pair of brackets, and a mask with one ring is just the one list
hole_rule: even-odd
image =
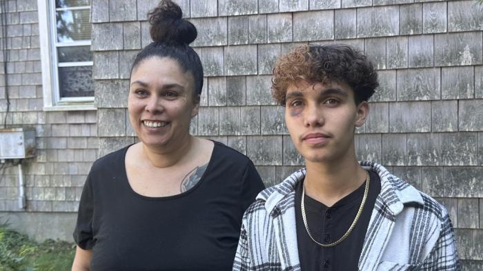
[(366, 101), (355, 105), (346, 83), (298, 81), (287, 88), (285, 121), (306, 161), (326, 163), (355, 156), (354, 129), (364, 124), (368, 111)]

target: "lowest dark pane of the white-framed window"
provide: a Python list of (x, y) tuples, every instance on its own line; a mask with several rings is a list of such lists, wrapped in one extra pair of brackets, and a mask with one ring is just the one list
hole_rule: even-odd
[(93, 97), (92, 66), (60, 67), (60, 97)]

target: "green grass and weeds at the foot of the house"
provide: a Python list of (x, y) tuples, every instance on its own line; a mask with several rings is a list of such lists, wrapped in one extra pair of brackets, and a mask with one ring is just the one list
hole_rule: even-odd
[(70, 270), (75, 245), (66, 241), (37, 243), (0, 225), (0, 271)]

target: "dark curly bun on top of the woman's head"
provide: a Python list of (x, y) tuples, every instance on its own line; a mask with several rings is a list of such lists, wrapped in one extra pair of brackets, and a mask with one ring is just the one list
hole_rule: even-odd
[(183, 19), (183, 12), (171, 0), (162, 0), (148, 13), (151, 39), (157, 43), (190, 44), (197, 37), (193, 23)]

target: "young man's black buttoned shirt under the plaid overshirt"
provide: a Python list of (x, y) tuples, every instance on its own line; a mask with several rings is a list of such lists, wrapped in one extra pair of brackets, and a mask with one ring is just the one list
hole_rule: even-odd
[[(348, 271), (357, 270), (357, 263), (364, 245), (364, 237), (371, 220), (375, 200), (381, 191), (379, 175), (369, 171), (369, 191), (364, 210), (351, 234), (331, 248), (322, 248), (308, 236), (302, 220), (302, 181), (295, 188), (295, 216), (297, 242), (302, 270)], [(305, 195), (305, 213), (312, 237), (319, 243), (339, 240), (351, 227), (364, 196), (364, 182), (357, 190), (348, 194), (328, 208), (323, 203)]]

